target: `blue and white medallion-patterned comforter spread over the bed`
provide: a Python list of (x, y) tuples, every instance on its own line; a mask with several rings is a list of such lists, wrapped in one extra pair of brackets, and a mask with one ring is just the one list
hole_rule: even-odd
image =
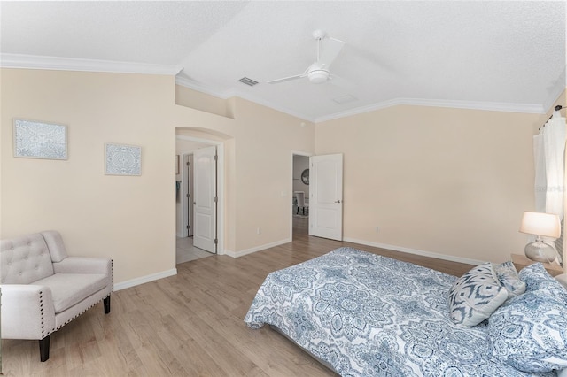
[(352, 248), (270, 273), (246, 314), (343, 376), (553, 376), (493, 358), (485, 323), (457, 327), (448, 291), (457, 278)]

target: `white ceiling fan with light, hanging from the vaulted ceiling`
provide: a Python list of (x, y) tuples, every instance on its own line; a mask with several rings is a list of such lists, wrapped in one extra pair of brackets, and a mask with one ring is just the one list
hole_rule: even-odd
[(268, 83), (277, 84), (283, 81), (291, 81), (307, 77), (310, 82), (319, 84), (329, 79), (329, 67), (335, 58), (337, 58), (340, 50), (343, 49), (345, 42), (327, 36), (322, 30), (315, 30), (313, 32), (313, 37), (317, 41), (317, 61), (312, 65), (309, 65), (304, 73), (268, 81)]

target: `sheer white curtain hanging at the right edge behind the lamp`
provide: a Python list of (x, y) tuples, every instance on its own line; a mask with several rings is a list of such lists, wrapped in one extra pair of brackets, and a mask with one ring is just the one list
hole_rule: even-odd
[(565, 118), (558, 111), (533, 136), (533, 155), (535, 211), (555, 213), (563, 220)]

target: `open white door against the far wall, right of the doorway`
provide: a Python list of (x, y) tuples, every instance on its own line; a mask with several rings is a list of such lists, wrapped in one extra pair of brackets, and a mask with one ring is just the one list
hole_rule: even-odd
[(309, 235), (343, 240), (343, 155), (309, 158)]

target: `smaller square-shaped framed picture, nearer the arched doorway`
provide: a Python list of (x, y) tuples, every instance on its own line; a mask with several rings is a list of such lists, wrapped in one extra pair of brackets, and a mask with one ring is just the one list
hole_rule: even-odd
[(105, 143), (105, 174), (142, 175), (142, 147)]

